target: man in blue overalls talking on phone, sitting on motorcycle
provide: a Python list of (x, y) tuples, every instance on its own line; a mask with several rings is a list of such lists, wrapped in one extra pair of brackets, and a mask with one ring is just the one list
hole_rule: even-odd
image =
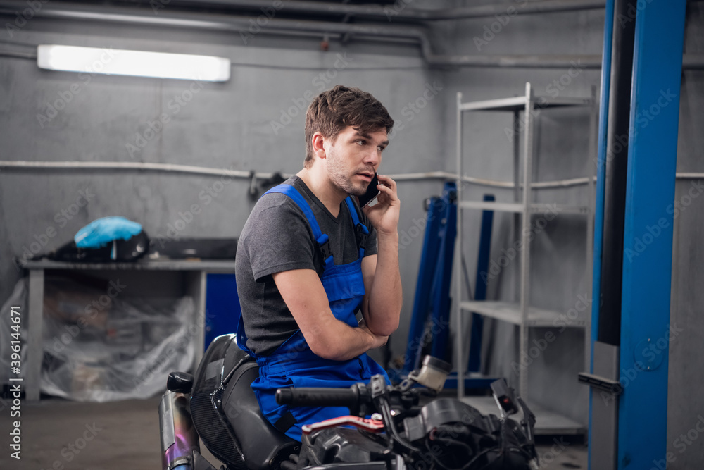
[(306, 113), (304, 168), (259, 199), (239, 238), (237, 342), (260, 366), (252, 388), (264, 416), (296, 440), (303, 424), (348, 409), (279, 406), (276, 389), (368, 381), (384, 370), (366, 352), (398, 328), (396, 183), (378, 175), (377, 204), (356, 199), (393, 125), (358, 88), (321, 93)]

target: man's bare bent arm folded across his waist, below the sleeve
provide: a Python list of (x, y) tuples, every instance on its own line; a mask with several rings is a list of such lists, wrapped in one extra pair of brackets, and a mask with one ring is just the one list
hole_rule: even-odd
[(344, 361), (386, 344), (386, 336), (377, 336), (364, 326), (353, 328), (335, 318), (318, 273), (312, 269), (272, 276), (308, 347), (318, 356)]

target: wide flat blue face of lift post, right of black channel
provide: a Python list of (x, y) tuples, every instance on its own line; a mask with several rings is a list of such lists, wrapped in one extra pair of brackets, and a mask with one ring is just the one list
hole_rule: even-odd
[(619, 469), (665, 468), (670, 457), (673, 214), (667, 209), (674, 202), (686, 0), (643, 4), (636, 13), (624, 225)]

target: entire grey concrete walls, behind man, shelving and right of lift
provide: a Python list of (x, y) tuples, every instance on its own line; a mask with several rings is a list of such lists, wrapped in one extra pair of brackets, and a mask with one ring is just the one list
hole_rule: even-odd
[[(434, 2), (424, 4), (436, 6)], [(688, 8), (685, 49), (701, 53), (701, 25), (696, 23), (702, 14), (701, 4)], [(484, 36), (485, 27), (491, 29), (495, 21), (482, 18), (437, 23), (433, 30), (436, 46), (439, 51), (461, 54), (601, 54), (603, 11), (519, 16), (501, 25), (494, 36)], [(486, 44), (475, 41), (475, 37)], [(532, 82), (539, 95), (554, 96), (557, 90), (559, 96), (586, 97), (591, 87), (599, 84), (598, 70), (582, 70), (579, 64), (571, 70), (430, 70), (414, 47), (354, 41), (347, 45), (332, 42), (330, 51), (322, 52), (312, 39), (258, 36), (244, 44), (237, 34), (38, 19), (15, 32), (11, 40), (213, 54), (231, 58), (234, 65), (230, 82), (207, 84), (177, 107), (175, 97), (188, 97), (191, 83), (104, 75), (89, 76), (88, 80), (85, 75), (39, 70), (33, 60), (0, 57), (3, 160), (146, 161), (294, 173), (303, 159), (303, 111), (296, 110), (306, 106), (303, 101), (310, 94), (344, 83), (372, 92), (397, 120), (391, 146), (384, 153), (383, 172), (455, 171), (456, 92), (463, 92), (465, 101), (509, 97), (522, 94), (525, 82)], [(341, 61), (338, 54), (346, 60)], [(562, 85), (556, 86), (555, 80), (562, 80)], [(73, 84), (77, 84), (78, 92), (70, 92)], [(434, 89), (434, 99), (414, 111), (410, 104), (417, 102), (427, 87)], [(684, 74), (678, 171), (702, 171), (696, 150), (702, 139), (698, 109), (703, 91), (700, 72)], [(64, 109), (48, 121), (37, 118), (38, 114), (46, 116), (49, 105), (57, 100), (68, 101)], [(285, 117), (282, 120), (282, 112), (289, 114), (290, 123)], [(137, 135), (150, 136), (149, 122), (162, 113), (170, 122), (146, 138), (144, 148), (130, 155), (127, 144), (137, 144)], [(286, 124), (279, 128), (272, 127), (272, 122)], [(594, 173), (594, 157), (586, 152), (588, 124), (584, 111), (540, 114), (536, 123), (535, 180)], [(504, 132), (507, 126), (510, 115), (467, 115), (463, 130), (467, 175), (513, 178), (513, 142)], [(46, 245), (42, 251), (57, 247), (80, 227), (102, 216), (127, 216), (157, 237), (165, 236), (169, 224), (198, 204), (200, 214), (180, 235), (237, 236), (252, 206), (247, 198), (249, 181), (234, 180), (222, 186), (218, 182), (222, 183), (215, 177), (135, 171), (1, 171), (0, 211), (4, 223), (0, 225), (0, 300), (8, 297), (20, 276), (11, 262), (13, 256), (21, 256), (32, 242)], [(417, 233), (413, 227), (424, 215), (422, 200), (439, 194), (441, 186), (438, 181), (399, 184), (403, 201), (400, 230), (407, 237), (401, 247), (403, 320), (392, 339), (396, 355), (403, 354), (406, 344), (422, 248), (422, 236), (413, 236)], [(677, 197), (684, 197), (690, 187), (689, 182), (678, 182)], [(73, 206), (82, 202), (81, 192), (89, 195), (88, 204)], [(467, 199), (479, 199), (485, 192), (496, 194), (498, 200), (513, 201), (510, 190), (472, 185), (465, 188)], [(589, 201), (589, 192), (586, 187), (540, 190), (535, 197), (539, 202), (581, 204)], [(704, 446), (704, 440), (697, 440), (687, 445), (681, 456), (675, 447), (679, 435), (694, 428), (697, 410), (704, 409), (704, 399), (693, 392), (704, 382), (704, 376), (692, 359), (699, 355), (704, 330), (698, 314), (700, 293), (693, 287), (701, 276), (698, 240), (703, 210), (700, 199), (692, 199), (678, 218), (673, 263), (676, 280), (672, 321), (688, 328), (671, 345), (668, 445), (678, 455), (673, 468), (683, 469), (693, 468), (691, 462), (696, 462)], [(68, 216), (62, 211), (68, 211)], [(478, 223), (478, 212), (465, 211), (463, 253), (472, 286)], [(585, 228), (583, 217), (560, 216), (536, 236), (531, 271), (534, 305), (567, 311), (578, 305), (580, 296), (591, 297), (584, 262)], [(54, 236), (45, 237), (47, 233)], [(500, 261), (502, 250), (516, 236), (513, 216), (497, 214), (491, 259)], [(490, 281), (489, 299), (517, 299), (518, 265), (517, 261), (510, 262)], [(494, 344), (486, 367), (516, 383), (511, 363), (517, 349), (517, 330), (491, 322), (486, 330), (493, 332)], [(534, 330), (531, 340), (539, 340), (545, 333)], [(577, 373), (584, 370), (582, 331), (567, 329), (557, 338), (529, 366), (531, 398), (586, 423), (588, 393), (576, 382)], [(694, 386), (684, 388), (684, 383)]]

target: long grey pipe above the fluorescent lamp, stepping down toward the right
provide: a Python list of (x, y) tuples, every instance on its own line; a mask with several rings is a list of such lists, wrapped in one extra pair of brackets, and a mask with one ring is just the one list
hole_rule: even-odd
[[(0, 5), (0, 14), (14, 14), (17, 8), (24, 6), (21, 2), (5, 2)], [(97, 20), (108, 23), (130, 25), (154, 25), (168, 27), (192, 27), (203, 30), (225, 32), (250, 32), (253, 27), (249, 16), (222, 16), (222, 14), (201, 13), (198, 19), (192, 14), (180, 11), (159, 11), (158, 16), (134, 8), (95, 7), (83, 4), (46, 4), (35, 16), (39, 18), (56, 18), (63, 20)], [(570, 68), (578, 64), (580, 68), (600, 68), (601, 56), (541, 56), (541, 55), (503, 55), (503, 56), (450, 56), (435, 54), (427, 32), (420, 27), (399, 25), (360, 25), (355, 23), (332, 23), (313, 20), (288, 20), (271, 18), (256, 24), (259, 32), (275, 35), (352, 35), (354, 37), (373, 37), (407, 42), (409, 39), (420, 44), (423, 58), (429, 66), (438, 67), (512, 67), (512, 68)]]

